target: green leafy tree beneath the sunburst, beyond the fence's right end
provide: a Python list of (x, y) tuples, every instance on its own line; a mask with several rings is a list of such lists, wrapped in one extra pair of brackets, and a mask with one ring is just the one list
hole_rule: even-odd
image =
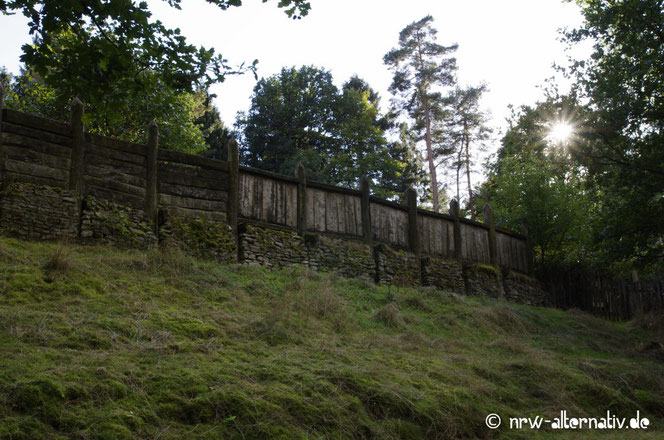
[(576, 142), (554, 145), (547, 138), (561, 117), (577, 122), (576, 108), (573, 97), (562, 97), (514, 113), (478, 196), (493, 207), (496, 224), (519, 230), (527, 223), (540, 267), (595, 258), (595, 194), (570, 151)]

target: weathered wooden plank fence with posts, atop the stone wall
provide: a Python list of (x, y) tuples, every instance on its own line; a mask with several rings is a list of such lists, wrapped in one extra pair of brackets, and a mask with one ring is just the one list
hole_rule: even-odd
[(398, 204), (361, 190), (308, 182), (303, 169), (283, 176), (241, 167), (237, 146), (229, 161), (158, 148), (158, 128), (146, 144), (85, 133), (82, 104), (72, 103), (71, 122), (61, 123), (14, 110), (1, 112), (2, 181), (72, 189), (142, 209), (186, 217), (227, 219), (385, 243), (420, 255), (493, 264), (532, 272), (527, 237), (485, 222), (418, 209), (415, 197)]

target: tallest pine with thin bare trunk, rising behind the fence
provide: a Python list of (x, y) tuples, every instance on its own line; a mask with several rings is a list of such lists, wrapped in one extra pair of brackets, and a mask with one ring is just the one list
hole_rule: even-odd
[[(454, 83), (456, 59), (448, 56), (457, 45), (441, 46), (430, 15), (406, 26), (399, 34), (399, 46), (389, 51), (383, 61), (394, 72), (390, 92), (397, 96), (398, 111), (406, 111), (415, 121), (414, 128), (424, 138), (429, 163), (433, 210), (439, 211), (438, 179), (433, 153), (433, 125), (444, 114), (441, 88)], [(422, 136), (422, 133), (423, 136)]]

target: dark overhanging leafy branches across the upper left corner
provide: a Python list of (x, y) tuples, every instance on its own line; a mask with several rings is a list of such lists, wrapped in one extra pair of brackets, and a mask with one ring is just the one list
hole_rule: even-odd
[[(221, 9), (242, 4), (207, 1)], [(179, 8), (181, 0), (167, 2)], [(280, 0), (278, 6), (293, 17), (309, 10), (305, 0)], [(144, 1), (0, 0), (0, 12), (30, 19), (33, 43), (23, 46), (21, 61), (47, 85), (109, 108), (120, 109), (132, 94), (154, 86), (154, 77), (175, 91), (192, 92), (244, 70), (231, 69), (214, 49), (193, 46), (179, 29), (153, 20)]]

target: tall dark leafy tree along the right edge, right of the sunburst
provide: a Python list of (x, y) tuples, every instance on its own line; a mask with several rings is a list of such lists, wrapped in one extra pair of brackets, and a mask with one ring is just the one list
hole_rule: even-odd
[(571, 66), (589, 102), (578, 148), (601, 194), (598, 240), (615, 260), (664, 259), (664, 6), (659, 0), (578, 1), (585, 22), (566, 33), (594, 41)]

